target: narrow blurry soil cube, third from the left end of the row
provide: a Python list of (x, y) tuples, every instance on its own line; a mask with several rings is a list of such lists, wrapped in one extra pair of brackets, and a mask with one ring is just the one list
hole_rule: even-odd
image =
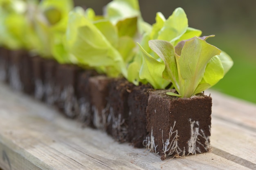
[(45, 94), (43, 84), (43, 62), (44, 59), (39, 56), (32, 57), (32, 70), (35, 84), (34, 97), (38, 100), (43, 100)]

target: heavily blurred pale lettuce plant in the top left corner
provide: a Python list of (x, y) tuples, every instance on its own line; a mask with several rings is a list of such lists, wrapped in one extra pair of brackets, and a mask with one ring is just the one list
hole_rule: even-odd
[(0, 43), (17, 50), (32, 50), (38, 39), (29, 13), (34, 11), (36, 0), (0, 0)]

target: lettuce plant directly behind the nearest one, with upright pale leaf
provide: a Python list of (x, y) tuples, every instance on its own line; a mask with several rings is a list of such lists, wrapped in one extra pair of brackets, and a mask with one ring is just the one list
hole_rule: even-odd
[[(153, 24), (150, 29), (147, 29), (147, 31), (145, 31), (141, 41), (139, 41), (139, 44), (154, 59), (162, 63), (163, 61), (159, 58), (159, 56), (156, 55), (155, 52), (153, 52), (153, 50), (151, 50), (151, 48), (148, 46), (149, 40), (166, 40), (169, 41), (173, 46), (175, 46), (178, 42), (182, 40), (190, 39), (194, 36), (200, 36), (202, 34), (202, 31), (189, 27), (186, 13), (182, 8), (175, 9), (175, 11), (173, 11), (173, 14), (169, 16), (167, 20), (162, 13), (158, 12), (156, 14), (155, 20), (155, 24)], [(139, 76), (139, 70), (143, 62), (142, 56), (142, 52), (139, 51), (134, 61), (130, 63), (128, 67), (128, 80), (136, 85), (138, 85), (139, 82), (146, 83), (146, 79), (143, 76)], [(135, 72), (135, 70), (137, 71)], [(159, 85), (158, 88), (164, 88), (169, 84), (169, 82), (165, 80), (161, 82), (162, 85)]]

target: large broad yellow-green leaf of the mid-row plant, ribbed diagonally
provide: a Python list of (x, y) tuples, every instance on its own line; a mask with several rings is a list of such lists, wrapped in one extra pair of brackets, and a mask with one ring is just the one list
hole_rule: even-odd
[(125, 46), (125, 42), (129, 44), (130, 41), (119, 39), (117, 28), (109, 20), (92, 22), (81, 13), (73, 11), (70, 13), (70, 23), (72, 26), (68, 26), (66, 34), (67, 44), (79, 63), (101, 67), (109, 76), (118, 76), (121, 73), (127, 77), (124, 62), (126, 56), (122, 54), (128, 52), (121, 46)]

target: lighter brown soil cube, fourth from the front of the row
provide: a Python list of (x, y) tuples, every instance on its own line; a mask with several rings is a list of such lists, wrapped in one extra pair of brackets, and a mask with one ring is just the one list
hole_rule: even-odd
[(112, 78), (103, 75), (89, 78), (93, 126), (103, 131), (106, 131), (107, 128), (109, 114), (108, 87), (112, 80)]

